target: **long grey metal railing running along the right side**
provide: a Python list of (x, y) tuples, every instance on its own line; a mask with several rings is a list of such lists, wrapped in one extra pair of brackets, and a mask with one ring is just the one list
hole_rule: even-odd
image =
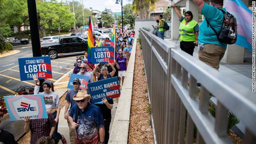
[[(155, 143), (232, 143), (227, 135), (229, 112), (246, 126), (244, 143), (255, 142), (255, 93), (141, 28), (140, 38)], [(208, 112), (210, 94), (218, 101), (215, 117)]]

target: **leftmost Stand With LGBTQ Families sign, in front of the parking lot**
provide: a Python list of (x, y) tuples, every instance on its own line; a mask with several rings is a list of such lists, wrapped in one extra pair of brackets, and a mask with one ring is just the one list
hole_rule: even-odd
[(52, 78), (52, 67), (50, 56), (18, 58), (20, 68), (20, 80), (33, 80), (33, 76), (38, 79)]

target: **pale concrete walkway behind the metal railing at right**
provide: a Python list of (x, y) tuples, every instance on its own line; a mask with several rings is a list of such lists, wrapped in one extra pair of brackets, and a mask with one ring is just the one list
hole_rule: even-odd
[[(176, 44), (176, 40), (171, 39), (165, 39), (166, 42), (173, 42)], [(180, 48), (180, 41), (178, 40), (177, 48)], [(246, 51), (246, 56), (250, 57), (251, 52)], [(193, 57), (196, 59), (198, 58), (198, 48), (194, 49)], [(224, 62), (220, 62), (220, 73), (224, 74), (225, 76), (228, 76), (232, 80), (242, 84), (243, 86), (246, 86), (249, 89), (252, 89), (252, 78), (249, 76), (252, 76), (250, 72), (252, 72), (252, 64), (250, 62), (245, 62), (242, 64), (225, 64)]]

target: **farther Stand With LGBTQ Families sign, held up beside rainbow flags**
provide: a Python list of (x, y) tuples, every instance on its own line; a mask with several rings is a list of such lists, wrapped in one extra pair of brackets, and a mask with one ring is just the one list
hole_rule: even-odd
[(102, 46), (91, 48), (92, 64), (106, 64), (114, 62), (113, 46)]

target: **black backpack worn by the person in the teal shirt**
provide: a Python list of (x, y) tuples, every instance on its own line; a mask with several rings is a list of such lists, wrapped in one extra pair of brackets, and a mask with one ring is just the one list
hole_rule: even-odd
[(210, 22), (205, 18), (207, 25), (208, 26), (210, 25), (210, 27), (215, 32), (220, 42), (225, 44), (234, 44), (237, 38), (236, 18), (229, 12), (225, 13), (224, 10), (221, 10), (221, 11), (224, 14), (224, 16), (223, 16), (223, 22), (222, 22), (222, 27), (220, 29), (220, 32), (217, 33), (216, 30), (211, 26)]

